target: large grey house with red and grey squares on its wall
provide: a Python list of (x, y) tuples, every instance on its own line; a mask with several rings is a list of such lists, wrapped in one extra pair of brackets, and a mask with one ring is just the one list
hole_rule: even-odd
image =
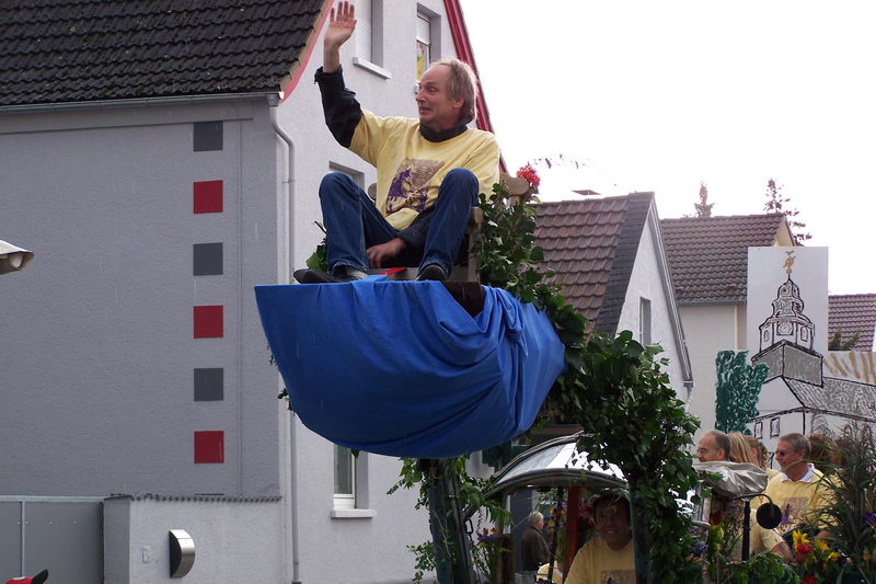
[[(194, 540), (191, 582), (414, 572), (428, 527), (415, 493), (384, 496), (400, 462), (290, 416), (254, 302), (322, 238), (320, 179), (374, 181), (310, 81), (331, 3), (0, 7), (0, 233), (37, 257), (4, 283), (0, 515), (97, 501), (62, 569), (19, 534), (59, 581), (163, 582), (170, 528)], [(458, 0), (359, 8), (343, 67), (377, 114), (416, 115), (418, 62), (473, 65)], [(0, 550), (0, 574), (22, 558)]]

